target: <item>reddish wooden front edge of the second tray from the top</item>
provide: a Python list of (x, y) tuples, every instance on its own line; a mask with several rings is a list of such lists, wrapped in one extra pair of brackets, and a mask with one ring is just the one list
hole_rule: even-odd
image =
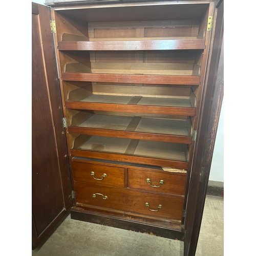
[(200, 76), (61, 73), (63, 81), (150, 83), (199, 86)]

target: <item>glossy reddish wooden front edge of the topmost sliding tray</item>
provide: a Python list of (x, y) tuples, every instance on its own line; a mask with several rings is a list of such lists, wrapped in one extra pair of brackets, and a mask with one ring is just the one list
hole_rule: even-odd
[(205, 49), (205, 39), (134, 41), (59, 41), (60, 51), (143, 51)]

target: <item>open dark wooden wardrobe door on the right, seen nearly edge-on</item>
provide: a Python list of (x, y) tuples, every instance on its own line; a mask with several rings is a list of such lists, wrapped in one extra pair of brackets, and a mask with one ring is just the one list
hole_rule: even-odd
[(223, 100), (223, 12), (224, 1), (216, 1), (214, 40), (208, 62), (208, 75), (205, 78), (205, 103), (200, 110), (202, 121), (199, 123), (200, 134), (197, 136), (198, 147), (195, 150), (194, 164), (188, 191), (187, 215), (185, 219), (184, 256), (194, 256), (200, 233), (203, 209), (210, 174), (212, 155), (217, 134)]

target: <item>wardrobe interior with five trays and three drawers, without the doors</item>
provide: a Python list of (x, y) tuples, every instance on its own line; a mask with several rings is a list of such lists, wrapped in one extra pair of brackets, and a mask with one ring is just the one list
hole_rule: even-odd
[[(151, 223), (163, 221), (164, 226), (183, 223), (205, 74), (208, 11), (208, 4), (167, 2), (56, 8), (55, 38), (77, 207), (112, 214), (124, 210), (140, 221), (143, 216)], [(90, 176), (83, 177), (83, 167), (76, 169), (77, 158), (87, 168), (93, 164), (88, 158), (105, 165), (112, 161), (115, 174), (124, 172), (123, 178), (118, 176), (121, 185), (92, 184)], [(164, 173), (165, 180), (177, 186), (166, 185), (170, 196), (163, 185), (163, 190), (150, 190), (145, 177), (140, 188), (136, 176), (150, 174), (150, 169), (123, 169), (122, 164), (118, 167), (121, 162), (181, 170), (182, 178), (163, 170), (154, 173), (157, 177)], [(164, 202), (174, 200), (176, 208), (172, 212), (163, 207), (153, 214), (145, 203), (137, 210), (108, 200), (101, 204), (102, 198), (92, 201), (86, 196), (96, 188), (131, 197), (135, 205), (139, 189), (143, 198), (148, 190), (154, 202), (162, 195)]]

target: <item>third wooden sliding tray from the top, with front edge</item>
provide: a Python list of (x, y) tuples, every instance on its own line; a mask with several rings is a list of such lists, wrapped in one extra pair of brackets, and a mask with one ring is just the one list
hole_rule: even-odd
[(195, 116), (191, 88), (87, 84), (70, 91), (66, 109)]

